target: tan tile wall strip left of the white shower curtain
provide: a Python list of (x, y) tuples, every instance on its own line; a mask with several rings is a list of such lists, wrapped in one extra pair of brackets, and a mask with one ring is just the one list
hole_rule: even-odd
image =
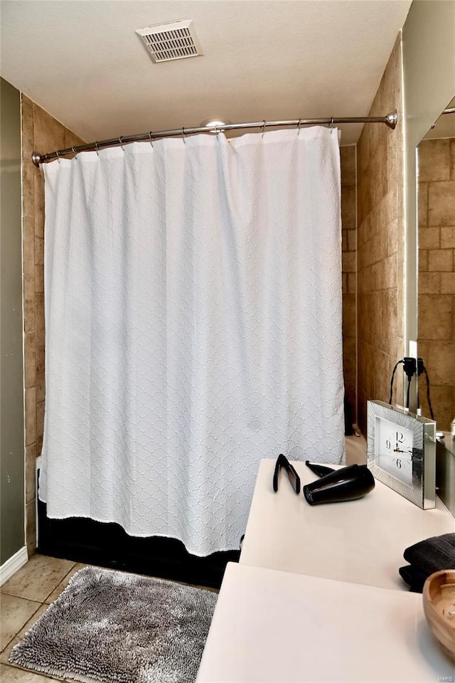
[(26, 540), (36, 548), (36, 457), (44, 421), (44, 182), (31, 154), (83, 144), (35, 102), (22, 95), (23, 311), (25, 332)]

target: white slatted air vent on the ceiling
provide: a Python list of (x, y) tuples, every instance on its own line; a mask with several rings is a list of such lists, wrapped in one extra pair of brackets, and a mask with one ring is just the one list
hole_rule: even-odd
[(203, 54), (191, 19), (138, 28), (136, 33), (141, 36), (154, 62), (168, 62), (171, 59)]

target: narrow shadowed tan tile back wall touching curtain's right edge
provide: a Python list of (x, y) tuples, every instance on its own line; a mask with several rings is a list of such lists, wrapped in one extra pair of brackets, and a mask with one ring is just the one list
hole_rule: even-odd
[(357, 209), (355, 145), (341, 147), (343, 250), (343, 374), (346, 399), (357, 420)]

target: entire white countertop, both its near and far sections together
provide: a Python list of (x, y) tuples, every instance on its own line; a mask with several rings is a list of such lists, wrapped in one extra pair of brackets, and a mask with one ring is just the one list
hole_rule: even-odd
[[(421, 510), (380, 482), (362, 499), (309, 505), (275, 460), (259, 465), (240, 563), (229, 563), (197, 683), (455, 681), (405, 549), (455, 531), (438, 500)], [(318, 477), (293, 462), (302, 485)]]

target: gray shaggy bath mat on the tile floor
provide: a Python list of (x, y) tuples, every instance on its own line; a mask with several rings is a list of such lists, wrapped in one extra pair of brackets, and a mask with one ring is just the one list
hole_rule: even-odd
[(191, 683), (216, 598), (171, 581), (85, 567), (9, 661), (84, 683)]

